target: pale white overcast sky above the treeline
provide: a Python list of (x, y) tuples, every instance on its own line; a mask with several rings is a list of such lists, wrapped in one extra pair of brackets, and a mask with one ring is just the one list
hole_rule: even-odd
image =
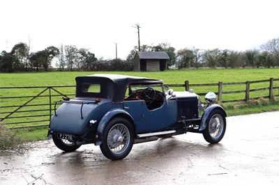
[(177, 50), (254, 49), (279, 38), (277, 0), (1, 0), (0, 51), (31, 40), (87, 48), (97, 58), (125, 59), (137, 46), (167, 42)]

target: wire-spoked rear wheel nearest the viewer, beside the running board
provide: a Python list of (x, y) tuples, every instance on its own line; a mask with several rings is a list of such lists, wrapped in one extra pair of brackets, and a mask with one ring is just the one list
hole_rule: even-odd
[(112, 161), (124, 159), (134, 143), (133, 126), (125, 118), (110, 120), (104, 130), (100, 150)]

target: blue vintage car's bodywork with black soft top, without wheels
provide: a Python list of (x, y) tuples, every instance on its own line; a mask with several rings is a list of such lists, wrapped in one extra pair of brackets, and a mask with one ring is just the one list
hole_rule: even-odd
[[(219, 105), (211, 105), (201, 113), (201, 102), (195, 93), (185, 91), (166, 95), (163, 81), (158, 79), (95, 74), (77, 77), (76, 82), (76, 97), (64, 101), (52, 117), (48, 133), (50, 137), (61, 132), (75, 135), (78, 142), (100, 145), (105, 127), (115, 117), (126, 118), (137, 138), (141, 134), (156, 135), (156, 132), (162, 131), (175, 130), (177, 134), (202, 132), (212, 111), (219, 109), (226, 115)], [(84, 90), (84, 84), (86, 87), (97, 85), (98, 88), (89, 92), (88, 88)], [(134, 86), (156, 86), (154, 99), (149, 95), (150, 102), (154, 100), (153, 104), (144, 99), (141, 94), (143, 89), (132, 90)]]

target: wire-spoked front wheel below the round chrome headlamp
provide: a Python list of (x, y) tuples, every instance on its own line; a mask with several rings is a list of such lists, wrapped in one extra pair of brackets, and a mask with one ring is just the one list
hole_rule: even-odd
[(206, 129), (203, 131), (204, 139), (211, 143), (219, 143), (226, 131), (226, 118), (223, 111), (215, 110), (206, 120)]

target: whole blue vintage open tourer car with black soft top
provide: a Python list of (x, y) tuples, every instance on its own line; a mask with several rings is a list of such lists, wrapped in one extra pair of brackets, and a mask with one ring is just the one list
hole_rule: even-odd
[(108, 159), (120, 160), (135, 143), (188, 131), (218, 143), (225, 134), (227, 115), (214, 104), (214, 93), (203, 104), (193, 90), (174, 92), (158, 79), (94, 74), (75, 81), (75, 98), (56, 102), (47, 134), (64, 152), (93, 143)]

